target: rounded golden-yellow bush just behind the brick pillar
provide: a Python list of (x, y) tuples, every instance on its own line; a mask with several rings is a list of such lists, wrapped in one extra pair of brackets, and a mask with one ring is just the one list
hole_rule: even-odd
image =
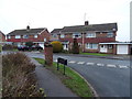
[(63, 50), (63, 45), (58, 41), (54, 41), (51, 43), (53, 45), (53, 53), (59, 53)]

